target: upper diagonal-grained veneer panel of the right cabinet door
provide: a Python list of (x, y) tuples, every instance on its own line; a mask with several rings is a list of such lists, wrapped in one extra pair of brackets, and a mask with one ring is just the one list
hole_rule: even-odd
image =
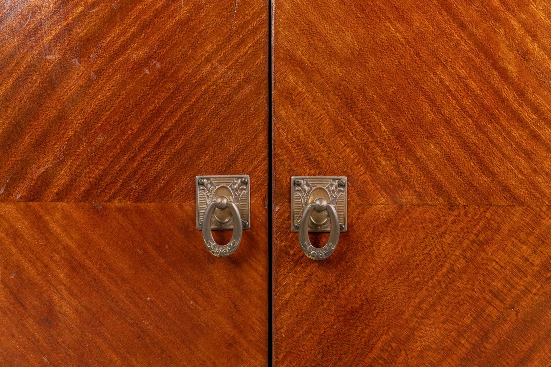
[(276, 202), (302, 174), (370, 204), (551, 203), (549, 34), (547, 1), (276, 0)]

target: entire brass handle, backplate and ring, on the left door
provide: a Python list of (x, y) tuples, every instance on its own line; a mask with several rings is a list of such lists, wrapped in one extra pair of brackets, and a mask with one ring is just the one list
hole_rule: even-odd
[[(250, 229), (249, 175), (197, 176), (196, 207), (197, 229), (203, 231), (205, 247), (215, 256), (233, 254), (241, 243), (243, 229)], [(219, 245), (212, 230), (233, 229), (231, 240)]]

